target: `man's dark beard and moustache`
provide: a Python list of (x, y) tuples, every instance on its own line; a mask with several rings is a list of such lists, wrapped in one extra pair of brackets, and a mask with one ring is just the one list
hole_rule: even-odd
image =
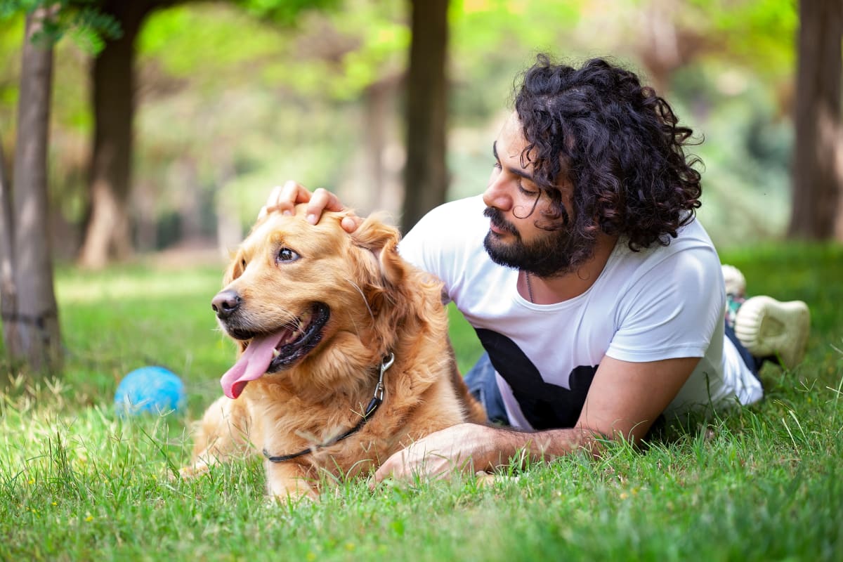
[[(526, 244), (515, 226), (502, 217), (501, 211), (486, 207), (483, 215), (498, 230), (511, 233), (514, 238), (512, 243), (504, 244), (491, 230), (486, 234), (483, 247), (497, 265), (528, 271), (534, 276), (553, 277), (576, 270), (593, 255), (593, 240), (577, 235), (570, 227), (547, 231), (545, 235)], [(578, 255), (575, 256), (574, 250), (583, 248), (588, 248), (588, 251), (584, 254), (582, 251), (576, 252)]]

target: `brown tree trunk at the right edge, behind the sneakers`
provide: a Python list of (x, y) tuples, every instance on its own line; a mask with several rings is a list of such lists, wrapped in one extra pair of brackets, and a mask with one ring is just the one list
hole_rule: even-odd
[(799, 3), (796, 148), (788, 234), (843, 240), (843, 127), (840, 74), (843, 3)]

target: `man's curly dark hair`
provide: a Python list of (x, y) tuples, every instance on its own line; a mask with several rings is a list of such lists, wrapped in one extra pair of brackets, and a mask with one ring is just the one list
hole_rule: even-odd
[[(634, 72), (599, 58), (577, 69), (539, 55), (514, 105), (527, 141), (522, 165), (533, 164), (536, 184), (552, 201), (543, 213), (550, 222), (540, 227), (573, 228), (590, 241), (599, 232), (620, 234), (637, 251), (670, 244), (693, 220), (701, 160), (683, 150), (693, 131), (677, 126), (668, 102)], [(565, 185), (572, 185), (574, 217), (562, 205)], [(583, 256), (575, 260), (593, 248), (576, 251)]]

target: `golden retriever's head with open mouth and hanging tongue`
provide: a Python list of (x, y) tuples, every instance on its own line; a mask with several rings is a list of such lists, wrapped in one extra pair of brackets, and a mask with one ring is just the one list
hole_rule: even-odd
[(348, 234), (344, 214), (326, 212), (311, 225), (304, 211), (272, 212), (255, 224), (212, 300), (219, 324), (240, 345), (221, 380), (229, 398), (249, 381), (304, 364), (311, 373), (343, 365), (359, 372), (352, 367), (389, 351), (417, 298), (405, 286), (415, 272), (400, 260), (394, 227), (369, 218)]

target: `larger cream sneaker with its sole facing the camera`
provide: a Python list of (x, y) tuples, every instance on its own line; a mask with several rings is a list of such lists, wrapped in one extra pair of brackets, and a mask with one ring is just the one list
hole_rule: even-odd
[(810, 331), (811, 313), (802, 301), (752, 297), (738, 308), (735, 317), (735, 335), (749, 353), (777, 356), (787, 369), (803, 360)]

